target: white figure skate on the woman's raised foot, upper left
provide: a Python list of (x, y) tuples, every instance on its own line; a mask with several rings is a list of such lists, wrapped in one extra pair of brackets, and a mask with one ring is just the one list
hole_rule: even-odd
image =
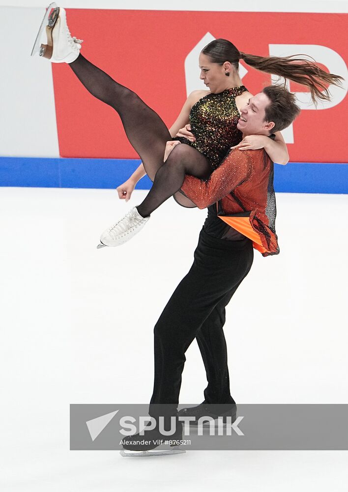
[[(41, 44), (43, 31), (46, 29), (47, 44)], [(66, 13), (56, 3), (51, 3), (46, 10), (37, 33), (31, 56), (36, 53), (54, 63), (74, 62), (80, 54), (82, 39), (71, 37), (66, 23)]]

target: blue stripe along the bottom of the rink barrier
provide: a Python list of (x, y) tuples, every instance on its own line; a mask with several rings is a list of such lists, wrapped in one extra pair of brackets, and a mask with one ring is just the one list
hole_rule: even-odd
[[(116, 188), (138, 159), (0, 157), (0, 186)], [(145, 176), (138, 189), (149, 189)], [(348, 164), (289, 162), (274, 166), (274, 189), (288, 193), (348, 193)]]

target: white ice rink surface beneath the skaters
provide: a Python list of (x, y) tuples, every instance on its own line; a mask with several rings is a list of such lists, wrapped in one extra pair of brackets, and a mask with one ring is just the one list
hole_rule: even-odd
[[(172, 199), (131, 242), (96, 249), (145, 194), (0, 188), (1, 490), (346, 491), (347, 451), (69, 451), (70, 403), (149, 401), (153, 326), (192, 264), (206, 211)], [(281, 253), (254, 251), (227, 308), (237, 403), (348, 402), (347, 216), (348, 195), (277, 194)], [(180, 402), (200, 403), (196, 342), (186, 358)]]

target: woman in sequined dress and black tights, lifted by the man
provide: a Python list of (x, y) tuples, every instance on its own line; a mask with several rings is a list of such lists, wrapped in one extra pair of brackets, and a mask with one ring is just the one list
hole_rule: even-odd
[[(166, 142), (172, 138), (172, 135), (160, 117), (146, 106), (137, 94), (115, 82), (80, 55), (81, 43), (76, 38), (71, 37), (66, 24), (64, 9), (56, 8), (52, 12), (50, 10), (49, 7), (47, 10), (47, 14), (50, 14), (47, 29), (48, 44), (41, 46), (40, 55), (52, 62), (69, 63), (87, 90), (118, 112), (128, 139), (142, 158), (147, 175), (151, 180), (154, 180), (158, 169), (163, 165)], [(44, 23), (42, 27), (45, 27)], [(40, 35), (37, 37), (38, 40), (39, 37)], [(236, 128), (239, 109), (251, 96), (242, 85), (238, 75), (240, 57), (239, 51), (226, 40), (213, 41), (203, 50), (200, 56), (201, 78), (209, 88), (210, 93), (207, 94), (206, 98), (202, 97), (203, 91), (195, 91), (190, 94), (172, 127), (172, 134), (175, 135), (179, 128), (188, 123), (190, 117), (196, 141), (190, 142), (188, 139), (180, 139), (182, 143), (189, 145), (177, 146), (175, 154), (173, 154), (175, 158), (170, 155), (170, 161), (167, 164), (174, 161), (176, 168), (176, 175), (173, 176), (171, 188), (177, 186), (171, 195), (180, 188), (180, 184), (177, 185), (177, 183), (181, 181), (182, 184), (182, 178), (186, 173), (207, 178), (221, 162), (230, 147), (240, 141), (241, 132)], [(254, 61), (252, 60), (253, 57), (249, 57), (250, 60), (247, 59), (247, 56), (242, 55), (242, 57), (251, 65), (254, 66), (259, 63), (262, 70), (270, 71), (268, 66), (270, 59), (256, 57), (257, 60)], [(260, 64), (259, 59), (265, 60), (265, 62)], [(278, 66), (275, 59), (272, 60), (273, 66), (277, 65), (276, 73), (278, 68), (280, 75), (287, 75), (284, 71), (286, 62), (280, 59)], [(191, 107), (194, 107), (192, 112)], [(203, 113), (205, 115), (204, 121), (202, 119)], [(273, 161), (288, 162), (288, 152), (280, 134), (276, 135), (274, 142), (267, 142), (267, 152)], [(154, 210), (153, 207), (157, 208), (160, 203), (171, 196), (168, 195), (168, 191), (162, 185), (157, 186), (157, 188), (156, 203), (153, 202), (153, 197), (151, 200), (150, 195), (146, 197), (146, 202), (132, 209), (128, 214), (129, 221), (133, 226), (131, 231), (124, 234), (124, 223), (120, 221), (117, 227), (113, 226), (102, 235), (104, 245), (116, 246), (121, 244), (140, 230), (148, 220), (151, 211)], [(151, 194), (153, 193), (155, 193), (155, 189), (152, 189)], [(176, 194), (176, 199), (182, 205), (193, 205), (179, 193)]]

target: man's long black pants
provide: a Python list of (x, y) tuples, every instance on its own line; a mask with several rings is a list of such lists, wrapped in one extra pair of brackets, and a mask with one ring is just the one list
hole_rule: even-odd
[(197, 338), (208, 386), (206, 403), (230, 403), (223, 326), (225, 307), (253, 263), (252, 241), (226, 241), (201, 230), (194, 262), (176, 287), (154, 328), (155, 376), (149, 414), (176, 413), (185, 352)]

